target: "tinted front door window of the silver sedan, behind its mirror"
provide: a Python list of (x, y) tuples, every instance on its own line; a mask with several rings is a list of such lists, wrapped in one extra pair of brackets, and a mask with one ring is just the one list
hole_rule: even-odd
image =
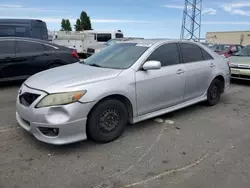
[(147, 59), (147, 61), (160, 61), (161, 66), (175, 65), (180, 62), (177, 44), (164, 44), (158, 47)]

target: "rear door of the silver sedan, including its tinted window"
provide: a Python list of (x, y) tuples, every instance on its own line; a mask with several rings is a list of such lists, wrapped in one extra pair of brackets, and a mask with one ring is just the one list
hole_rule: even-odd
[(194, 43), (179, 45), (186, 70), (184, 101), (189, 101), (206, 93), (216, 65), (213, 58), (198, 45)]

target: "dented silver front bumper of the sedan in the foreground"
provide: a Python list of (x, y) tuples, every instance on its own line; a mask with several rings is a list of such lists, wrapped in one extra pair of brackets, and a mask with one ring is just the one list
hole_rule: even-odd
[[(35, 108), (37, 102), (46, 93), (26, 86), (22, 86), (22, 92), (40, 95), (29, 107), (21, 104), (19, 97), (17, 97), (16, 102), (18, 124), (38, 140), (49, 144), (63, 145), (87, 139), (87, 115), (94, 103), (75, 102), (69, 105)], [(57, 129), (58, 134), (46, 135), (41, 128)]]

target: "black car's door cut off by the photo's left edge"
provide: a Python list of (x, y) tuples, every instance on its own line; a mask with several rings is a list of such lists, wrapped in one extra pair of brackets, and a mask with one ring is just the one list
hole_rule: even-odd
[(9, 80), (19, 76), (18, 69), (16, 69), (15, 48), (15, 39), (0, 40), (0, 80)]

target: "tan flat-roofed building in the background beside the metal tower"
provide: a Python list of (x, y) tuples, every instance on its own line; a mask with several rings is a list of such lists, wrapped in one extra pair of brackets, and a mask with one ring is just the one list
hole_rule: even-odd
[(207, 32), (206, 41), (216, 44), (250, 45), (250, 31)]

